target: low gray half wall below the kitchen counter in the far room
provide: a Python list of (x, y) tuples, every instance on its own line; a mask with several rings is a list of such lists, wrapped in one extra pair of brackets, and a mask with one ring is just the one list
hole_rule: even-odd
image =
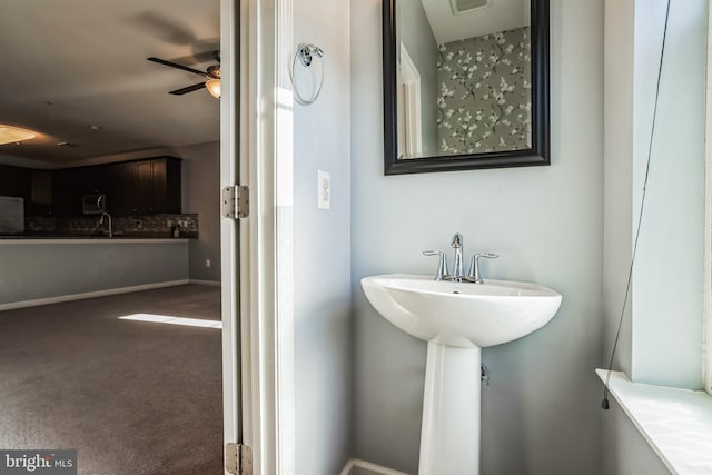
[(188, 243), (0, 240), (0, 305), (188, 278)]

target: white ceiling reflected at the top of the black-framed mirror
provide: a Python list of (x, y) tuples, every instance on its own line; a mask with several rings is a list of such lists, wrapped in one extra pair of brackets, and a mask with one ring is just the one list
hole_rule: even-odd
[(530, 24), (531, 0), (490, 0), (485, 8), (453, 14), (448, 0), (421, 0), (438, 44)]

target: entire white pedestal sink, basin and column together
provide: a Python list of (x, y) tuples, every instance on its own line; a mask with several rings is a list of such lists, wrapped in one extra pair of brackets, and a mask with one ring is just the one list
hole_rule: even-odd
[(558, 310), (561, 295), (536, 284), (406, 274), (360, 284), (384, 318), (428, 343), (418, 474), (477, 475), (481, 348), (543, 327)]

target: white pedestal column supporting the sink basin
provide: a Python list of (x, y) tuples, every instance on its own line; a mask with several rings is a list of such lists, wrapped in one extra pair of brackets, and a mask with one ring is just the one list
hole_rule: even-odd
[(479, 474), (481, 349), (427, 343), (418, 475)]

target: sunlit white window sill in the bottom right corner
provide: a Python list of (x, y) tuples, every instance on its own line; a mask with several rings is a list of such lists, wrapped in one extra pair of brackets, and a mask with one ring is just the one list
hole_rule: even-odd
[[(596, 369), (605, 382), (605, 369)], [(612, 372), (610, 393), (673, 474), (712, 473), (712, 397), (701, 390), (632, 383)]]

